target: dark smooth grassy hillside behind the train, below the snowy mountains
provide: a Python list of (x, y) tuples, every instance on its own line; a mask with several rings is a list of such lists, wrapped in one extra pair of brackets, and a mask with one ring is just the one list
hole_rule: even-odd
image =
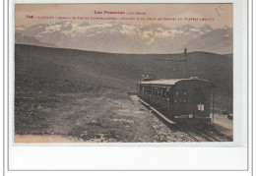
[[(38, 88), (65, 92), (81, 88), (87, 91), (90, 88), (132, 91), (142, 79), (141, 71), (154, 66), (156, 79), (182, 78), (182, 63), (160, 61), (180, 57), (183, 54), (114, 54), (16, 44), (16, 93), (18, 87), (26, 85), (31, 90), (29, 85), (33, 81)], [(196, 76), (215, 83), (217, 107), (231, 110), (231, 55), (190, 52), (187, 61), (188, 77)]]

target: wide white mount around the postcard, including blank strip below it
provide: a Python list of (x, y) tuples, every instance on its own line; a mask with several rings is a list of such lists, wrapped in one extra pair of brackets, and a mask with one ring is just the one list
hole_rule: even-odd
[[(30, 3), (34, 1), (15, 1), (16, 3)], [(59, 3), (60, 1), (36, 1), (36, 3)], [(61, 1), (61, 3), (67, 2)], [(70, 1), (69, 1), (70, 2)], [(75, 1), (85, 2), (85, 1)], [(72, 1), (72, 3), (75, 3)], [(96, 3), (96, 1), (86, 1)], [(105, 1), (97, 1), (105, 2)], [(110, 1), (117, 3), (118, 1)], [(128, 1), (123, 1), (128, 2)], [(138, 2), (138, 1), (136, 1)], [(147, 1), (153, 3), (156, 1)], [(170, 1), (161, 1), (169, 3)], [(171, 3), (187, 1), (171, 1)], [(193, 3), (202, 1), (193, 1)], [(204, 3), (223, 1), (207, 0)], [(232, 2), (234, 8), (234, 114), (240, 120), (234, 121), (234, 142), (233, 143), (188, 143), (188, 144), (69, 144), (69, 145), (14, 145), (13, 129), (9, 128), (9, 161), (10, 169), (246, 169), (247, 168), (247, 12), (246, 1), (225, 1)], [(108, 2), (107, 2), (108, 3)], [(131, 3), (131, 1), (129, 1)], [(132, 2), (134, 3), (134, 2)], [(139, 2), (141, 3), (141, 2)], [(160, 3), (160, 2), (158, 2)], [(14, 30), (13, 6), (9, 6), (9, 29)], [(235, 28), (237, 27), (237, 28)], [(243, 27), (243, 29), (241, 29)], [(9, 30), (11, 31), (11, 30)], [(14, 105), (14, 53), (13, 53), (13, 32), (9, 33), (9, 124), (13, 125)], [(239, 41), (239, 42), (238, 42)], [(243, 59), (239, 59), (243, 58)], [(239, 69), (238, 69), (239, 68)], [(241, 69), (240, 69), (241, 68)], [(246, 87), (241, 87), (246, 86)], [(241, 89), (239, 89), (241, 88)], [(242, 100), (242, 101), (240, 101)], [(242, 103), (241, 103), (242, 102)], [(239, 110), (241, 109), (241, 110)], [(245, 117), (245, 118), (244, 118)], [(9, 126), (10, 127), (10, 126)], [(51, 146), (51, 147), (50, 147)], [(52, 147), (55, 146), (55, 147)], [(62, 146), (62, 147), (59, 147)], [(72, 147), (71, 147), (72, 146)], [(76, 147), (73, 147), (76, 146)], [(97, 147), (96, 147), (97, 146)], [(101, 146), (101, 147), (98, 147)], [(118, 146), (118, 147), (117, 147)], [(179, 147), (177, 147), (179, 146)], [(182, 146), (182, 147), (180, 147)], [(194, 146), (194, 147), (191, 147)], [(201, 147), (200, 147), (201, 146)], [(204, 147), (202, 147), (204, 146)], [(218, 150), (218, 151), (217, 151)], [(90, 152), (88, 152), (90, 151)], [(145, 152), (144, 152), (145, 151)], [(173, 152), (174, 151), (174, 152)], [(56, 155), (56, 153), (58, 153)], [(63, 153), (65, 153), (63, 155)], [(86, 155), (85, 155), (85, 154)], [(100, 153), (100, 155), (98, 155)], [(104, 153), (107, 153), (106, 155)], [(117, 154), (119, 153), (119, 154)], [(150, 154), (149, 154), (150, 153)], [(168, 153), (168, 155), (166, 155)], [(198, 155), (198, 153), (201, 153)], [(221, 155), (219, 155), (219, 153)], [(156, 155), (154, 155), (156, 154)], [(47, 157), (48, 158), (45, 158)], [(54, 156), (54, 157), (50, 157)], [(63, 156), (63, 157), (60, 157)], [(65, 156), (65, 159), (64, 159)], [(68, 156), (68, 157), (67, 157)], [(79, 156), (79, 158), (78, 158)], [(107, 157), (102, 157), (107, 156)], [(182, 157), (180, 157), (182, 156)], [(218, 162), (211, 162), (209, 158), (219, 156)], [(228, 163), (228, 157), (232, 158), (232, 164)], [(50, 159), (52, 158), (52, 159)], [(86, 158), (86, 160), (85, 160)], [(112, 158), (112, 159), (111, 159)], [(153, 158), (155, 158), (153, 162)], [(184, 158), (186, 161), (184, 162)], [(197, 162), (195, 162), (197, 158)], [(22, 159), (22, 161), (21, 161)], [(46, 159), (46, 160), (45, 160)], [(74, 162), (74, 160), (77, 160)], [(90, 159), (90, 160), (89, 160)], [(110, 159), (110, 161), (109, 161)], [(227, 159), (227, 160), (226, 160)], [(125, 162), (124, 162), (125, 160)], [(19, 161), (19, 162), (18, 162)], [(47, 162), (43, 162), (47, 161)], [(65, 161), (65, 162), (63, 162)], [(90, 161), (90, 162), (89, 162)], [(122, 162), (120, 162), (122, 161)], [(206, 162), (207, 161), (207, 162)], [(223, 162), (224, 161), (224, 162)], [(61, 163), (61, 164), (60, 164)], [(79, 164), (81, 163), (81, 164)], [(154, 163), (154, 164), (152, 164)], [(167, 164), (169, 163), (169, 164)], [(171, 163), (171, 164), (170, 164)], [(183, 163), (182, 165), (180, 165)], [(184, 165), (185, 163), (185, 165)], [(218, 164), (220, 163), (220, 164)], [(28, 165), (29, 164), (29, 165)], [(107, 167), (106, 167), (107, 166)], [(180, 168), (182, 166), (182, 168)], [(191, 168), (193, 166), (193, 168)]]

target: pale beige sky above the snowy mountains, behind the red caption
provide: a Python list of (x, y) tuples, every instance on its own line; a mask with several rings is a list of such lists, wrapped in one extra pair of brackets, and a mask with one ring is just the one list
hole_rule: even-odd
[[(119, 11), (126, 14), (96, 14), (96, 12)], [(132, 15), (128, 12), (146, 13), (146, 15)], [(206, 24), (214, 29), (224, 26), (233, 27), (232, 4), (16, 4), (15, 5), (15, 25), (31, 27), (37, 24), (53, 24), (67, 21), (58, 19), (29, 19), (27, 15), (34, 17), (111, 17), (111, 18), (183, 18), (181, 21), (158, 21), (158, 20), (125, 20), (125, 24), (147, 26), (151, 24), (162, 24), (169, 28), (177, 28), (183, 25), (193, 25), (201, 27)], [(185, 21), (184, 18), (208, 18), (211, 21)], [(109, 23), (102, 20), (68, 20), (81, 24), (88, 22), (91, 25)]]

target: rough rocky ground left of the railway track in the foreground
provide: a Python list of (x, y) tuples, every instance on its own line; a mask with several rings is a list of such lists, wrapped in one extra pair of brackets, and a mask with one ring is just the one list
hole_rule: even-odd
[[(186, 133), (162, 123), (138, 102), (136, 95), (129, 96), (118, 89), (83, 86), (75, 92), (61, 92), (57, 90), (58, 84), (63, 85), (61, 81), (56, 84), (56, 90), (43, 88), (47, 84), (38, 85), (34, 80), (27, 83), (29, 87), (19, 84), (16, 91), (17, 142), (20, 135), (32, 138), (32, 134), (46, 134), (47, 138), (51, 138), (50, 134), (60, 135), (88, 143), (194, 141)], [(38, 86), (40, 88), (34, 88)], [(67, 88), (75, 87), (78, 86)], [(21, 141), (26, 139), (20, 138)]]

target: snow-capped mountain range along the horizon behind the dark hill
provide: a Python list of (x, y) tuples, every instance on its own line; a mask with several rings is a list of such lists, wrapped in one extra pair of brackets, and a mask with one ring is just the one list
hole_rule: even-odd
[(201, 49), (203, 51), (221, 54), (232, 51), (230, 44), (215, 49), (224, 44), (227, 35), (227, 38), (232, 37), (232, 29), (223, 31), (209, 25), (200, 28), (185, 25), (171, 29), (160, 24), (140, 27), (115, 21), (99, 25), (87, 22), (79, 25), (68, 21), (30, 28), (17, 27), (16, 32), (58, 47), (110, 53), (179, 53), (184, 47), (189, 51), (199, 50), (204, 42), (208, 47)]

